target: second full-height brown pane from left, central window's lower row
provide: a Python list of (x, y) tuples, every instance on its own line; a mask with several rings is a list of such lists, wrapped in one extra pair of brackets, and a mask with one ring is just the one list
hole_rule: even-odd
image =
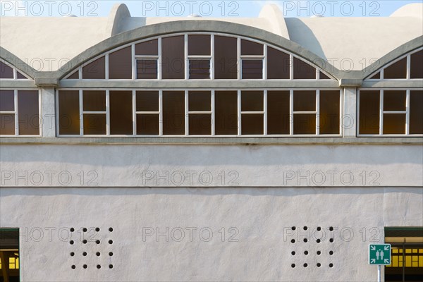
[(110, 99), (110, 134), (133, 134), (132, 91), (111, 91)]

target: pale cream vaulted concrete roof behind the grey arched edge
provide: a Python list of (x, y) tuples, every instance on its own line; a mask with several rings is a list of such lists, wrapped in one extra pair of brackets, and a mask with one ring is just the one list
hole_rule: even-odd
[(422, 11), (423, 4), (409, 4), (385, 18), (283, 18), (271, 4), (264, 6), (258, 18), (136, 18), (124, 4), (117, 4), (109, 17), (1, 17), (0, 46), (37, 71), (56, 71), (60, 60), (73, 59), (122, 32), (171, 21), (214, 20), (266, 30), (290, 39), (340, 70), (361, 71), (372, 59), (422, 36)]

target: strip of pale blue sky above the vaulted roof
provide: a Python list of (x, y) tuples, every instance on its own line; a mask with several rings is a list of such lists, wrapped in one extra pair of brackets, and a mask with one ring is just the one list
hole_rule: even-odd
[[(108, 16), (112, 6), (124, 3), (135, 17), (189, 16), (257, 17), (262, 6), (276, 4), (286, 17), (308, 17), (313, 14), (336, 17), (389, 16), (393, 11), (417, 1), (16, 1), (0, 0), (0, 16)], [(422, 11), (423, 13), (423, 11)]]

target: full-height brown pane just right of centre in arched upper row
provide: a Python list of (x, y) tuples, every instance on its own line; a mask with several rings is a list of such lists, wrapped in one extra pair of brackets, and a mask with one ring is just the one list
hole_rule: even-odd
[(233, 37), (214, 37), (214, 78), (238, 78), (237, 39)]

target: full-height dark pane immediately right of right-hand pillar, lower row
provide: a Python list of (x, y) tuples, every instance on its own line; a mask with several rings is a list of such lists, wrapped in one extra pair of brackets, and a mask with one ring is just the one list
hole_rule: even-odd
[(379, 134), (379, 91), (360, 91), (360, 134)]

